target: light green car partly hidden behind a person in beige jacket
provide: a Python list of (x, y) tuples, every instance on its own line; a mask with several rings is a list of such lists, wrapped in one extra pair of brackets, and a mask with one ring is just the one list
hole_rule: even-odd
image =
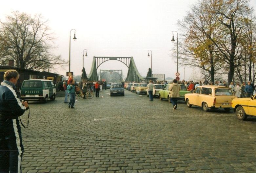
[[(170, 99), (169, 99), (169, 92), (170, 92), (169, 91), (169, 86), (170, 85), (171, 84), (165, 85), (164, 88), (159, 91), (158, 96), (159, 96), (160, 100), (168, 99), (168, 101), (170, 102)], [(185, 101), (185, 94), (191, 93), (191, 92), (187, 91), (187, 88), (186, 88), (185, 85), (180, 85), (180, 86), (181, 86), (181, 90), (180, 90), (180, 98), (179, 98), (179, 100)]]

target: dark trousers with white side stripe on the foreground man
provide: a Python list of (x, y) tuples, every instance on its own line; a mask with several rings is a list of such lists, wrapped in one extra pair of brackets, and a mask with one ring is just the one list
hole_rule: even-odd
[(19, 120), (0, 120), (0, 172), (21, 173), (23, 151)]

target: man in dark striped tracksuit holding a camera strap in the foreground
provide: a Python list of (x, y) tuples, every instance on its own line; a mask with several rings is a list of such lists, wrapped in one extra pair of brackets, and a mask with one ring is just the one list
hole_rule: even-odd
[(19, 79), (16, 70), (8, 70), (0, 86), (0, 172), (20, 173), (21, 157), (24, 151), (18, 117), (29, 105), (20, 101), (15, 93)]

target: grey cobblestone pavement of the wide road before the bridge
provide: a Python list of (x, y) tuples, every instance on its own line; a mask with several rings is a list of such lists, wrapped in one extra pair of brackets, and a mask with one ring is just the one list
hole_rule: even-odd
[(256, 173), (256, 118), (108, 93), (30, 103), (23, 173)]

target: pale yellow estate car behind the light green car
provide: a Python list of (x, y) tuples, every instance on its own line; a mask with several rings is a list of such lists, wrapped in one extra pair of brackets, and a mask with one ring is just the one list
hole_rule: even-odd
[(212, 85), (199, 86), (194, 93), (185, 94), (187, 107), (201, 106), (204, 111), (208, 111), (209, 108), (224, 108), (228, 112), (234, 98), (236, 97), (231, 88)]

